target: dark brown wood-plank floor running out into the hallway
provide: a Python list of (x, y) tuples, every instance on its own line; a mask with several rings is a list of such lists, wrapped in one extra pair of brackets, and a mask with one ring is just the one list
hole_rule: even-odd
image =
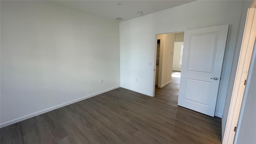
[(155, 97), (117, 88), (1, 128), (1, 144), (221, 144), (221, 119), (177, 106), (179, 78)]

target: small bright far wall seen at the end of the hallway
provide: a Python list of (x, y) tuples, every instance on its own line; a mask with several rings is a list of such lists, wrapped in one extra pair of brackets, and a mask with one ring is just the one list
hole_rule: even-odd
[(183, 42), (174, 42), (172, 70), (181, 71), (180, 53), (181, 53), (182, 45), (183, 45)]

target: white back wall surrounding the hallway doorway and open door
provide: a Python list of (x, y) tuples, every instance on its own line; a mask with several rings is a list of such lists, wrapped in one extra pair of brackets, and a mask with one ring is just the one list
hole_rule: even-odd
[[(153, 95), (157, 33), (229, 24), (215, 115), (223, 114), (243, 1), (195, 1), (120, 22), (120, 85)], [(148, 65), (152, 62), (152, 65)], [(138, 81), (135, 81), (138, 78)]]

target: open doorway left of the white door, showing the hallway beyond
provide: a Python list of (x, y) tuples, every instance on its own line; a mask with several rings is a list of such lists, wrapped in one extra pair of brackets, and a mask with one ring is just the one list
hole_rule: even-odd
[(184, 32), (158, 34), (156, 36), (155, 93), (168, 94), (173, 105), (178, 106)]

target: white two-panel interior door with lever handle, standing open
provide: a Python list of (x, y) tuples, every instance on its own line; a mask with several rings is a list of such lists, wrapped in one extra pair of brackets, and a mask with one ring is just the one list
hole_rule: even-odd
[(184, 33), (178, 105), (214, 116), (228, 24)]

